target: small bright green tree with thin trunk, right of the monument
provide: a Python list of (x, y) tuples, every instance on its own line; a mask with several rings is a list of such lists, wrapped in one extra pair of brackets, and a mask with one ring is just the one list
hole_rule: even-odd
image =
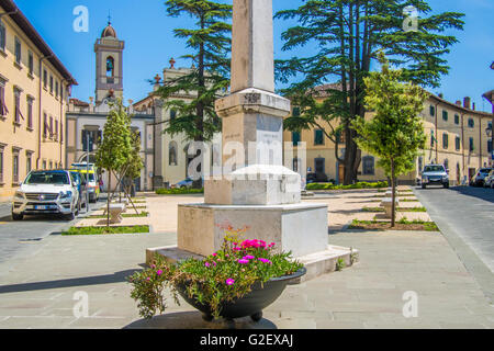
[(364, 78), (367, 109), (375, 115), (366, 121), (358, 117), (353, 127), (359, 137), (360, 148), (380, 157), (379, 166), (391, 178), (392, 216), (396, 218), (396, 182), (400, 174), (412, 171), (415, 158), (424, 149), (426, 136), (420, 112), (428, 93), (413, 83), (401, 82), (402, 70), (392, 70), (383, 53), (379, 54), (381, 72), (372, 72)]

